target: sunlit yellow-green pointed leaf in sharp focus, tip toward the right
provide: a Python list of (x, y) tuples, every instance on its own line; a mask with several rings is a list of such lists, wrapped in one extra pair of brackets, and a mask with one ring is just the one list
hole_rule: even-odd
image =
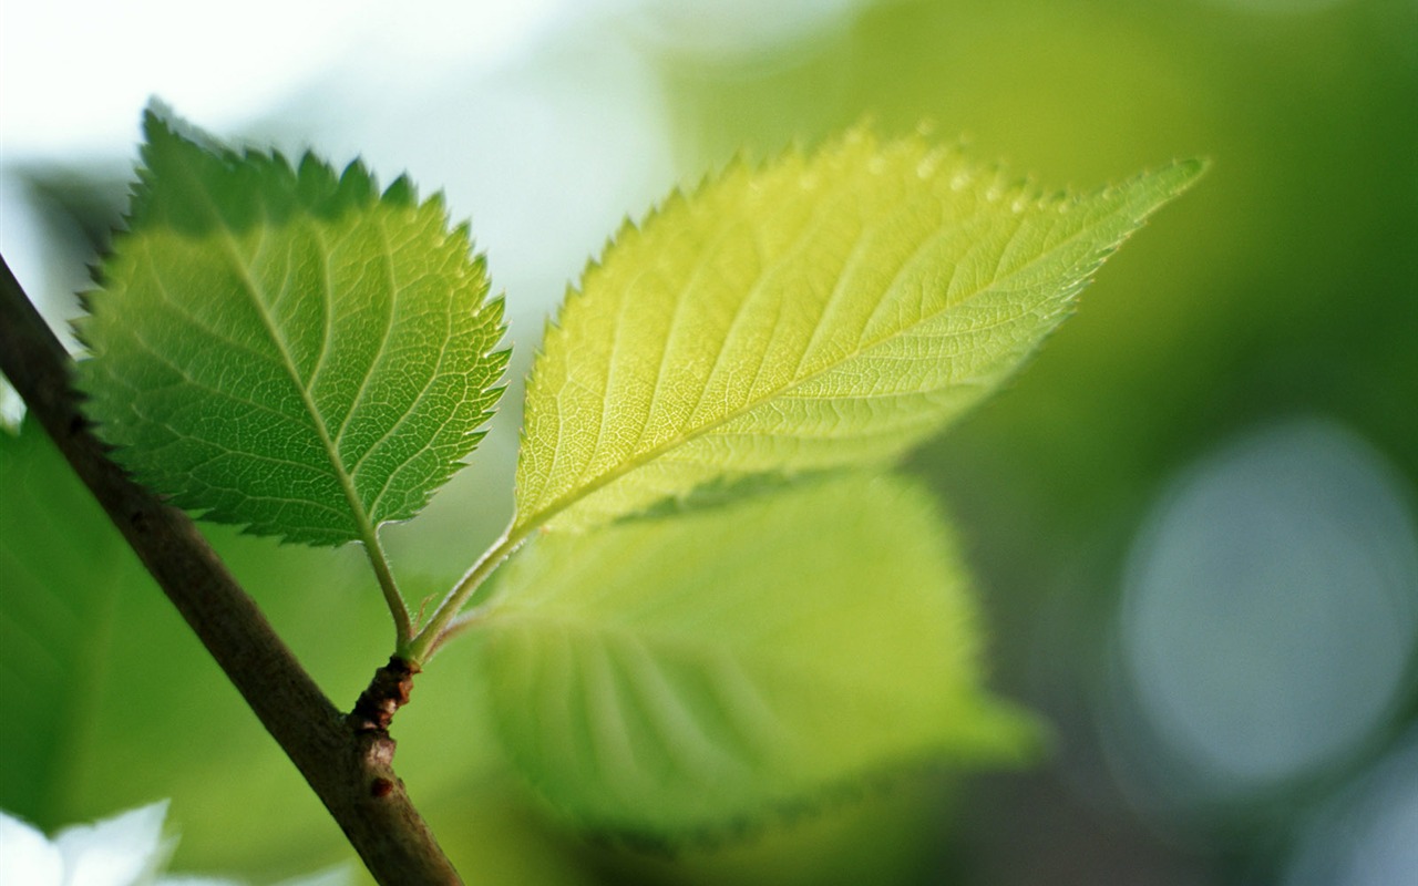
[(1041, 197), (854, 130), (672, 196), (547, 330), (512, 534), (898, 456), (1014, 371), (1201, 169)]

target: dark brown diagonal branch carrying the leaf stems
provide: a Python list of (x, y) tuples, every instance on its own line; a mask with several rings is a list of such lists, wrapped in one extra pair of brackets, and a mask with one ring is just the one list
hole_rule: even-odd
[(394, 774), (393, 739), (342, 717), (187, 515), (109, 461), (79, 411), (64, 346), (3, 258), (0, 268), (0, 369), (370, 873), (386, 886), (459, 883)]

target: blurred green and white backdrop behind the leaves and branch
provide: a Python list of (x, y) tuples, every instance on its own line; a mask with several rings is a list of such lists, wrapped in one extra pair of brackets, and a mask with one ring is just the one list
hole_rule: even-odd
[[(257, 3), (224, 24), (30, 6), (0, 6), (0, 248), (57, 323), (118, 223), (149, 94), (224, 138), (408, 169), (472, 217), (518, 350), (475, 465), (386, 532), (428, 594), (506, 517), (540, 318), (676, 183), (864, 118), (1046, 187), (1214, 160), (1007, 391), (909, 464), (967, 543), (993, 685), (1054, 723), (1042, 766), (637, 855), (523, 794), (454, 645), (396, 736), (469, 882), (1418, 877), (1418, 3)], [(0, 808), (52, 829), (172, 797), (174, 868), (254, 882), (347, 858), (33, 445), (0, 449)], [(387, 654), (359, 551), (211, 534), (352, 700)]]

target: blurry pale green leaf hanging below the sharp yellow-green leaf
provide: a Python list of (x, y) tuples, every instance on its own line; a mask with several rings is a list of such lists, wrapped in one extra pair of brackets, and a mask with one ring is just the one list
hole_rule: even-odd
[(1014, 760), (917, 488), (849, 473), (676, 520), (547, 533), (475, 637), (509, 757), (600, 826), (682, 831), (932, 758)]

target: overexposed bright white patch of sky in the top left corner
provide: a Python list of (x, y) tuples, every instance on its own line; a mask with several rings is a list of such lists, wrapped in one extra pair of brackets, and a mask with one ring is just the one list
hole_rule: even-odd
[[(162, 95), (221, 130), (354, 55), (410, 79), (523, 51), (566, 0), (0, 0), (6, 163), (128, 155), (138, 111)], [(228, 11), (240, 10), (240, 11)]]

